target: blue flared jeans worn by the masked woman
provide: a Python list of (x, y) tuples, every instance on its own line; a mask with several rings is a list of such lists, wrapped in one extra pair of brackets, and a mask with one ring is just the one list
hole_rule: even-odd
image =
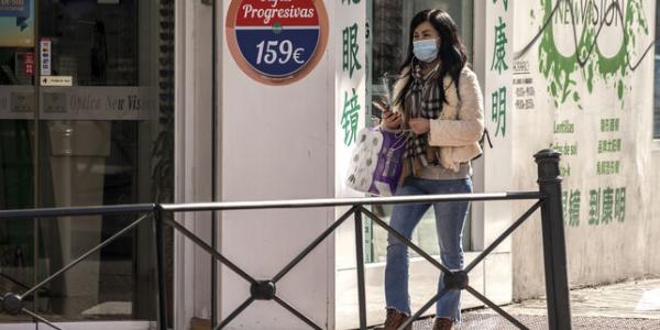
[[(431, 180), (408, 177), (399, 187), (397, 196), (437, 195), (437, 194), (469, 194), (472, 193), (470, 178), (455, 180)], [(431, 204), (396, 205), (392, 212), (389, 226), (406, 237), (413, 235), (413, 230), (421, 220)], [(440, 260), (450, 270), (463, 268), (463, 224), (468, 213), (469, 201), (436, 202), (436, 231), (440, 244)], [(392, 234), (387, 235), (387, 264), (385, 266), (385, 300), (387, 308), (411, 315), (410, 297), (408, 295), (408, 249)], [(438, 280), (438, 292), (444, 284), (442, 274)], [(436, 305), (436, 316), (461, 319), (461, 290), (451, 289)]]

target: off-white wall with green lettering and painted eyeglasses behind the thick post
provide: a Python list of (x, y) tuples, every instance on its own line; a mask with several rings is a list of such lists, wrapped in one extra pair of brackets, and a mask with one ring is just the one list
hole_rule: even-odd
[[(652, 212), (656, 202), (651, 198), (657, 190), (653, 187), (658, 187), (651, 166), (653, 61), (651, 52), (632, 70), (626, 58), (635, 65), (654, 40), (654, 1), (604, 1), (605, 6), (622, 6), (624, 16), (631, 18), (624, 25), (618, 15), (603, 15), (607, 7), (602, 8), (601, 2), (573, 1), (578, 41), (593, 44), (590, 33), (604, 21), (595, 53), (590, 57), (586, 52), (581, 53), (584, 68), (575, 61), (570, 10), (563, 7), (568, 1), (514, 1), (514, 48), (521, 51), (534, 40), (558, 2), (562, 7), (546, 33), (514, 64), (513, 188), (538, 189), (536, 167), (530, 166), (535, 152), (550, 145), (563, 152), (564, 228), (571, 285), (644, 276), (653, 271), (649, 270), (646, 256), (660, 239), (654, 221), (658, 212)], [(584, 3), (587, 6), (583, 7)], [(597, 8), (597, 25), (590, 23), (588, 8)], [(582, 21), (583, 12), (586, 24)], [(619, 169), (598, 170), (603, 162), (613, 162), (615, 168), (618, 164)], [(620, 198), (623, 189), (625, 202)], [(575, 196), (580, 196), (579, 204)], [(516, 204), (514, 215), (520, 215), (526, 207)], [(624, 210), (620, 207), (625, 212), (617, 212)], [(514, 297), (542, 294), (538, 215), (515, 234), (513, 251)]]

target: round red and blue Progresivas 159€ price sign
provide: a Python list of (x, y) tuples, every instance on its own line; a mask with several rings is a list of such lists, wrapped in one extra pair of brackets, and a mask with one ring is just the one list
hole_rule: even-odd
[(307, 76), (328, 43), (322, 0), (232, 0), (226, 28), (239, 67), (268, 85)]

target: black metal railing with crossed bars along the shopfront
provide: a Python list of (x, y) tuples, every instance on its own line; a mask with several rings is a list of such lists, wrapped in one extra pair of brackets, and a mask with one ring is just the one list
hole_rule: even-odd
[[(565, 330), (571, 329), (571, 312), (569, 301), (569, 286), (566, 278), (566, 255), (565, 240), (563, 232), (562, 219), (562, 200), (561, 200), (561, 177), (559, 176), (559, 157), (560, 154), (544, 150), (535, 155), (538, 164), (538, 184), (539, 191), (526, 193), (501, 193), (501, 194), (459, 194), (459, 195), (432, 195), (432, 196), (406, 196), (406, 197), (374, 197), (374, 198), (344, 198), (344, 199), (306, 199), (306, 200), (287, 200), (287, 201), (254, 201), (254, 202), (208, 202), (208, 204), (188, 204), (188, 205), (143, 205), (143, 206), (117, 206), (101, 208), (65, 208), (65, 209), (38, 209), (38, 210), (18, 210), (18, 211), (0, 211), (0, 219), (15, 217), (56, 217), (56, 216), (75, 216), (75, 215), (99, 215), (110, 212), (148, 212), (141, 217), (129, 227), (122, 229), (110, 239), (102, 242), (100, 245), (85, 253), (76, 261), (69, 263), (58, 272), (48, 276), (46, 279), (26, 290), (22, 295), (7, 294), (2, 298), (4, 311), (10, 314), (25, 312), (33, 318), (41, 320), (51, 327), (58, 329), (45, 318), (24, 308), (23, 298), (43, 287), (56, 276), (75, 266), (85, 257), (94, 252), (106, 246), (119, 235), (132, 230), (146, 218), (151, 218), (154, 224), (154, 235), (156, 242), (156, 286), (157, 286), (157, 323), (158, 329), (167, 329), (167, 310), (165, 297), (164, 282), (164, 244), (163, 229), (165, 226), (174, 228), (185, 238), (191, 240), (196, 245), (207, 251), (213, 257), (213, 267), (217, 266), (216, 261), (220, 262), (229, 270), (238, 274), (251, 285), (250, 297), (223, 320), (217, 322), (216, 310), (211, 310), (212, 329), (222, 329), (243, 312), (252, 302), (256, 300), (272, 300), (295, 317), (304, 321), (312, 329), (322, 329), (315, 323), (310, 318), (300, 312), (295, 306), (282, 299), (277, 293), (277, 283), (293, 271), (306, 256), (308, 256), (319, 244), (321, 244), (331, 233), (333, 233), (341, 224), (346, 222), (351, 217), (355, 226), (355, 256), (356, 256), (356, 273), (358, 273), (358, 298), (360, 308), (360, 329), (366, 329), (366, 294), (364, 283), (364, 246), (362, 238), (363, 216), (370, 218), (375, 224), (385, 229), (389, 234), (394, 235), (406, 244), (409, 249), (417, 252), (421, 257), (426, 258), (435, 267), (440, 270), (444, 276), (443, 280), (446, 288), (438, 293), (427, 304), (425, 304), (413, 317), (399, 327), (405, 329), (411, 322), (417, 320), (427, 309), (429, 309), (440, 297), (447, 294), (450, 289), (461, 289), (470, 293), (486, 306), (494, 309), (496, 312), (505, 317), (519, 329), (527, 329), (515, 317), (498, 307), (487, 297), (470, 286), (470, 272), (482, 262), (491, 252), (493, 252), (507, 237), (509, 237), (520, 224), (522, 224), (536, 210), (541, 209), (542, 221), (542, 238), (543, 238), (543, 258), (546, 267), (546, 294), (548, 297), (548, 321), (549, 329)], [(365, 206), (374, 205), (396, 205), (408, 202), (448, 202), (448, 201), (491, 201), (491, 200), (536, 200), (536, 202), (524, 215), (516, 220), (504, 233), (502, 233), (491, 245), (488, 245), (475, 260), (473, 260), (464, 270), (451, 271), (439, 263), (436, 258), (426, 253), (422, 249), (407, 240), (383, 219), (371, 212)], [(174, 217), (164, 217), (165, 212), (197, 212), (197, 211), (229, 211), (229, 210), (255, 210), (255, 209), (298, 209), (298, 208), (321, 208), (321, 207), (350, 207), (350, 209), (339, 217), (328, 229), (318, 235), (311, 243), (307, 245), (297, 256), (290, 260), (270, 279), (258, 279), (244, 270), (237, 266), (232, 261), (228, 260), (216, 249), (206, 243), (202, 239), (186, 229), (183, 224), (172, 220)], [(217, 277), (211, 278), (217, 285)], [(213, 298), (217, 293), (212, 292)]]

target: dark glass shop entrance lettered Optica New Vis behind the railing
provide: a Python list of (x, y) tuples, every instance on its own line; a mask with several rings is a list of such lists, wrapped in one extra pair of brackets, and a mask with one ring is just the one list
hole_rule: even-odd
[[(0, 207), (167, 201), (173, 1), (20, 2), (33, 30), (24, 44), (0, 44)], [(138, 217), (0, 223), (0, 283), (24, 292), (15, 286), (41, 282)], [(46, 285), (33, 308), (54, 320), (154, 319), (153, 251), (144, 222)]]

